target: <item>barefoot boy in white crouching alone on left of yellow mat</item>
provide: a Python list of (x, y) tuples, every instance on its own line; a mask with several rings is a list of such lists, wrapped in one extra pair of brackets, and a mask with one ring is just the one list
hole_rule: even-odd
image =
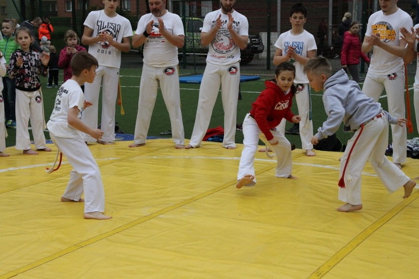
[[(85, 219), (110, 219), (111, 216), (102, 213), (105, 210), (105, 194), (100, 170), (82, 135), (83, 132), (101, 140), (103, 132), (89, 128), (80, 120), (82, 110), (91, 105), (84, 101), (80, 86), (93, 82), (98, 63), (87, 52), (76, 53), (70, 63), (73, 76), (58, 90), (47, 124), (51, 140), (73, 167), (61, 201), (84, 201)], [(85, 199), (81, 198), (83, 192)]]

